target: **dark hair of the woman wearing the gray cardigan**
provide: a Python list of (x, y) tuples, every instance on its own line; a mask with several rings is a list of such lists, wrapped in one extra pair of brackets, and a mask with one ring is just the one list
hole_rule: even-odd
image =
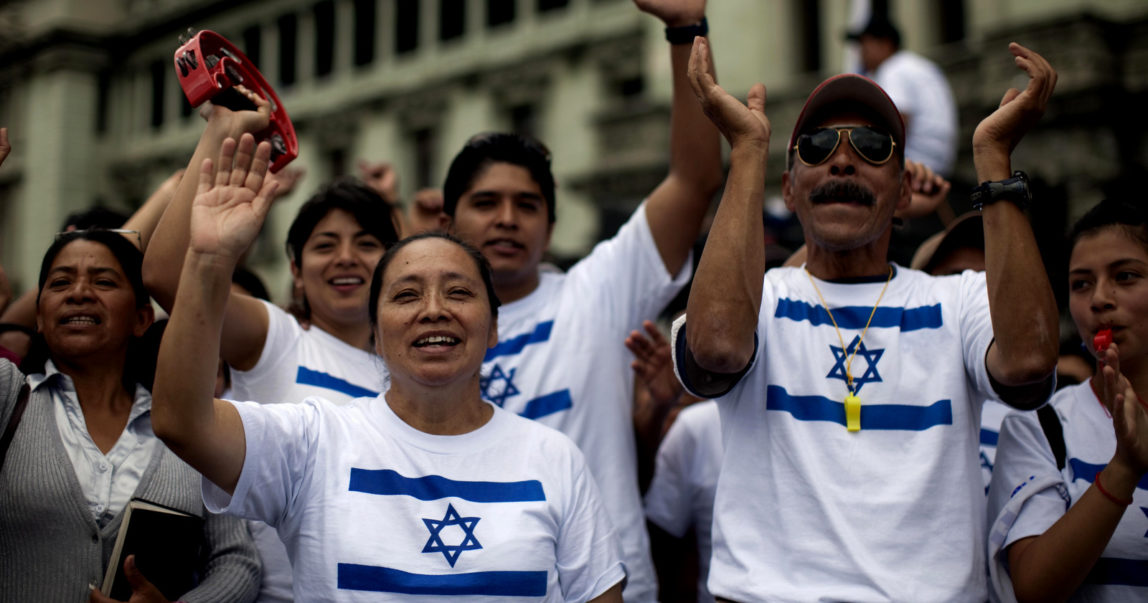
[[(36, 293), (36, 307), (39, 311), (40, 307), (40, 293), (44, 291), (44, 285), (48, 281), (48, 273), (52, 271), (52, 264), (55, 263), (56, 257), (60, 252), (68, 247), (75, 241), (92, 241), (98, 242), (108, 248), (111, 255), (116, 257), (119, 262), (119, 268), (124, 271), (124, 276), (127, 277), (127, 281), (131, 283), (132, 292), (135, 294), (135, 308), (145, 308), (152, 303), (152, 299), (148, 296), (147, 288), (144, 286), (144, 254), (135, 247), (131, 241), (125, 239), (122, 234), (116, 232), (109, 232), (102, 229), (92, 230), (76, 230), (71, 232), (64, 232), (56, 235), (56, 240), (52, 242), (48, 250), (44, 254), (44, 261), (40, 262), (40, 278), (38, 280), (38, 288)], [(152, 379), (148, 374), (150, 366), (154, 374), (155, 366), (155, 355), (158, 351), (158, 339), (154, 339), (152, 345), (144, 345), (139, 338), (133, 338), (133, 340), (127, 346), (127, 358), (124, 362), (124, 376), (123, 384), (124, 387), (131, 391), (137, 382), (144, 385), (148, 389), (152, 387)], [(44, 363), (51, 357), (52, 350), (48, 349), (47, 341), (44, 339), (41, 333), (37, 333), (32, 338), (31, 347), (29, 348), (28, 355), (21, 362), (21, 370), (25, 373), (42, 372)]]

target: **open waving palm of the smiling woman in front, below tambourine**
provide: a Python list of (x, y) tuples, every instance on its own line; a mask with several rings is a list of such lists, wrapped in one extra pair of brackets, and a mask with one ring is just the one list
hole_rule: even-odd
[(223, 141), (214, 180), (212, 161), (203, 161), (192, 206), (191, 249), (235, 261), (247, 250), (279, 187), (266, 178), (270, 159), (271, 145), (256, 147), (248, 133), (238, 145), (232, 138)]

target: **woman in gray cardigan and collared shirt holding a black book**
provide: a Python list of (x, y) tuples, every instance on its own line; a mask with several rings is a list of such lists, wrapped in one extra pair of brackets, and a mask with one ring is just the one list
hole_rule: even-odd
[[(0, 424), (17, 426), (0, 453), (0, 602), (88, 601), (137, 497), (204, 519), (201, 539), (165, 542), (176, 557), (184, 550), (202, 559), (186, 567), (197, 586), (164, 596), (250, 601), (257, 593), (259, 562), (246, 526), (204, 510), (199, 476), (152, 431), (150, 378), (141, 368), (154, 349), (141, 349), (140, 337), (153, 312), (140, 261), (114, 232), (57, 237), (40, 269), (26, 379), (0, 362)], [(10, 394), (25, 382), (26, 405), (17, 411)], [(163, 601), (146, 579), (165, 562), (138, 562), (145, 579), (133, 582), (133, 601)]]

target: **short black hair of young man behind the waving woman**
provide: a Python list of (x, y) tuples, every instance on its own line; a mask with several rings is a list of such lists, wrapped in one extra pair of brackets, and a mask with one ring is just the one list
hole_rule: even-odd
[(494, 163), (510, 163), (530, 172), (530, 178), (534, 178), (546, 201), (548, 217), (553, 224), (557, 216), (550, 149), (542, 142), (520, 134), (487, 132), (471, 137), (447, 170), (447, 181), (442, 186), (442, 210), (453, 219), (458, 200), (470, 191), (479, 175)]

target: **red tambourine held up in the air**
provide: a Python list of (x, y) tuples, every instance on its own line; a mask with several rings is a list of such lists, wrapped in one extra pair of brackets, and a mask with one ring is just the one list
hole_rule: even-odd
[(192, 36), (176, 49), (176, 76), (192, 107), (205, 101), (232, 110), (254, 109), (234, 86), (242, 84), (271, 103), (271, 123), (255, 136), (271, 142), (271, 171), (277, 172), (298, 156), (298, 139), (287, 109), (250, 59), (226, 38), (209, 30)]

